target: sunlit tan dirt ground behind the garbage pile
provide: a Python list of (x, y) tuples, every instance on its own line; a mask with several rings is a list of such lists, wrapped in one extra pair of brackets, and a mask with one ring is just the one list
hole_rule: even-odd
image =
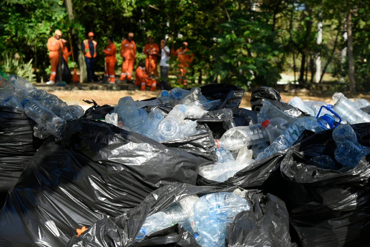
[[(69, 105), (71, 104), (78, 104), (82, 106), (87, 106), (87, 103), (83, 102), (82, 100), (91, 100), (94, 99), (99, 105), (116, 105), (118, 103), (118, 100), (124, 96), (131, 96), (134, 100), (142, 100), (142, 99), (148, 99), (152, 97), (156, 97), (157, 92), (149, 92), (149, 91), (129, 91), (129, 90), (119, 90), (119, 91), (105, 91), (105, 90), (72, 90), (72, 91), (53, 91), (51, 92), (55, 95), (57, 95), (60, 99), (67, 102)], [(312, 92), (292, 92), (292, 93), (286, 93), (281, 92), (280, 93), (282, 97), (282, 101), (289, 102), (291, 98), (294, 96), (299, 96), (302, 98), (302, 100), (309, 100), (309, 101), (324, 101), (326, 103), (333, 103), (332, 97), (330, 94), (325, 96), (315, 96), (312, 95)], [(357, 94), (357, 95), (351, 95), (350, 93), (344, 92), (344, 95), (346, 95), (348, 98), (353, 99), (366, 99), (367, 101), (370, 101), (370, 95), (364, 95), (364, 94)], [(240, 104), (240, 107), (243, 108), (250, 108), (250, 92), (245, 92), (243, 96), (242, 103)], [(85, 108), (84, 107), (84, 108)]]

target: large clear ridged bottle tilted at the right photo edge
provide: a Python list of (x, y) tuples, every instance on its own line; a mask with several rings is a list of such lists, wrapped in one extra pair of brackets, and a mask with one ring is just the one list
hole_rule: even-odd
[(333, 109), (350, 124), (370, 122), (370, 115), (361, 111), (360, 108), (345, 97), (340, 97)]

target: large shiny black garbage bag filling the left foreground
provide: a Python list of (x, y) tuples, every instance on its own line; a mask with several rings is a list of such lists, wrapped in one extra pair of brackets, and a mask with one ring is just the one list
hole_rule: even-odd
[[(47, 139), (0, 211), (0, 246), (66, 246), (82, 225), (137, 207), (164, 185), (195, 184), (206, 161), (101, 121)], [(16, 229), (16, 230), (15, 230)]]

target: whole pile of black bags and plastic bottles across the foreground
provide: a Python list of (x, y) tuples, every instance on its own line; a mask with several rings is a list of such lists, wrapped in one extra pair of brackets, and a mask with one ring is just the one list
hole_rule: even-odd
[(367, 244), (366, 100), (210, 84), (84, 112), (0, 80), (0, 246)]

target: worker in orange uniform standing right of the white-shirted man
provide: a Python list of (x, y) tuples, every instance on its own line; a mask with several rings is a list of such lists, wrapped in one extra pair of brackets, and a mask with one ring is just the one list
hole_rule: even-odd
[(182, 47), (175, 51), (174, 45), (172, 44), (172, 55), (177, 56), (179, 61), (179, 70), (177, 74), (177, 79), (180, 84), (187, 85), (186, 83), (186, 73), (188, 72), (189, 65), (193, 62), (194, 54), (188, 49), (188, 43), (182, 42)]

